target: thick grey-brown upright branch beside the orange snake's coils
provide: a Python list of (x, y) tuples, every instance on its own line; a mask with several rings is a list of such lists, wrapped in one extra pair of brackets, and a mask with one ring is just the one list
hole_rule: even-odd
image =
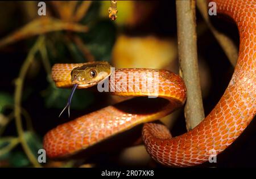
[(195, 1), (176, 1), (180, 73), (187, 87), (185, 118), (187, 130), (204, 119), (196, 45)]

